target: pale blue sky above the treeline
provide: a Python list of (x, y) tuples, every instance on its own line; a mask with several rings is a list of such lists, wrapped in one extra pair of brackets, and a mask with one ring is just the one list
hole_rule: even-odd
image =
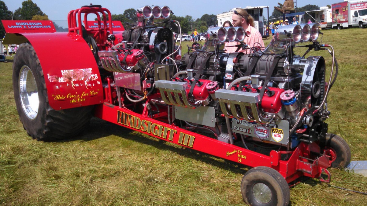
[[(3, 0), (10, 11), (15, 11), (22, 6), (23, 0)], [(342, 0), (298, 0), (297, 7), (306, 4), (314, 4), (318, 6), (326, 6), (327, 4), (341, 2)], [(200, 18), (203, 14), (220, 14), (229, 11), (235, 7), (246, 6), (269, 6), (269, 15), (273, 12), (273, 7), (277, 2), (283, 3), (284, 0), (180, 0), (180, 1), (162, 1), (162, 0), (33, 0), (41, 10), (48, 15), (51, 20), (66, 20), (68, 12), (89, 3), (99, 4), (111, 11), (112, 14), (122, 14), (128, 8), (141, 8), (145, 5), (167, 5), (177, 16), (191, 15), (194, 19)], [(225, 4), (223, 3), (225, 2)]]

